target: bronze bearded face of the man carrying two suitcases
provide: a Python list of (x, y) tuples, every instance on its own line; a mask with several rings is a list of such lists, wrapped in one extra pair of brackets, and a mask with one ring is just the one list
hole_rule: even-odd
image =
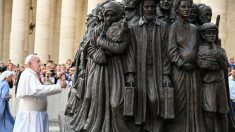
[(144, 1), (143, 12), (146, 20), (154, 20), (156, 14), (156, 5), (154, 1)]

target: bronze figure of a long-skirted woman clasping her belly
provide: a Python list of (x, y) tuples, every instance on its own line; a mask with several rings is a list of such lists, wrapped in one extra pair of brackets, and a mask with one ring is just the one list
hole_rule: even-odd
[(188, 22), (192, 3), (175, 3), (176, 21), (169, 27), (168, 54), (172, 62), (172, 83), (175, 88), (175, 119), (166, 132), (204, 132), (200, 110), (200, 82), (195, 67), (198, 48), (197, 27)]

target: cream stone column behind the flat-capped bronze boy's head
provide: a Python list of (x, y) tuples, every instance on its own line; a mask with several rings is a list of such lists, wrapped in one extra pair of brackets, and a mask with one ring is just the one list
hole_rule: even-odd
[(212, 8), (212, 22), (216, 22), (217, 15), (220, 15), (219, 36), (222, 40), (222, 47), (227, 47), (226, 33), (227, 33), (227, 8), (228, 0), (201, 0), (201, 3), (211, 6)]

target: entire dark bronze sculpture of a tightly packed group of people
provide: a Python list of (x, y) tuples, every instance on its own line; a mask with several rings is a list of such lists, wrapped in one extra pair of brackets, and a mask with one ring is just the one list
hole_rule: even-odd
[(65, 111), (71, 128), (235, 131), (226, 53), (211, 15), (209, 6), (192, 0), (98, 4), (73, 63)]

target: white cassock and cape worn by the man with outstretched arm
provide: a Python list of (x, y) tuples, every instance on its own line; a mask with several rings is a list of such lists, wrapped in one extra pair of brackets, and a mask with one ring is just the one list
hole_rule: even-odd
[(46, 96), (60, 92), (60, 85), (42, 85), (36, 72), (26, 68), (18, 83), (20, 104), (13, 132), (48, 132)]

